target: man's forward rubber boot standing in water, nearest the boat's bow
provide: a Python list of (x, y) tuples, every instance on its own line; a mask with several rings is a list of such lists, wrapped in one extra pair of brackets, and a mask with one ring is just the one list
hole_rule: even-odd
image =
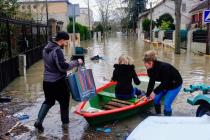
[(61, 109), (61, 121), (63, 129), (67, 130), (69, 127), (69, 110)]

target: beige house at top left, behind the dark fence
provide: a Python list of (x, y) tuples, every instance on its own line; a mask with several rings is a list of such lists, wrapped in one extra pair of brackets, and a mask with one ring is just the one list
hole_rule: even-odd
[(53, 19), (58, 24), (63, 23), (62, 29), (67, 30), (69, 23), (69, 8), (71, 3), (68, 0), (45, 0), (20, 1), (21, 12), (30, 13), (34, 20), (46, 23), (46, 5), (48, 7), (48, 19)]

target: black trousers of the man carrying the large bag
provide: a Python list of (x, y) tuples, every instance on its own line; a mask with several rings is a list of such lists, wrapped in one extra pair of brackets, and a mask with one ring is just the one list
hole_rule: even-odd
[(65, 78), (62, 78), (56, 82), (43, 82), (43, 89), (45, 95), (45, 101), (43, 104), (53, 106), (55, 101), (60, 104), (61, 119), (63, 123), (69, 122), (69, 101), (70, 94)]

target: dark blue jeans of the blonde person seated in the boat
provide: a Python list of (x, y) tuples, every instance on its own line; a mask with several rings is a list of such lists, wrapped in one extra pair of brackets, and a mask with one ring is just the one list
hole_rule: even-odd
[(116, 98), (121, 100), (129, 100), (132, 98), (136, 98), (136, 95), (141, 95), (141, 91), (138, 88), (133, 88), (133, 91), (129, 94), (115, 94)]

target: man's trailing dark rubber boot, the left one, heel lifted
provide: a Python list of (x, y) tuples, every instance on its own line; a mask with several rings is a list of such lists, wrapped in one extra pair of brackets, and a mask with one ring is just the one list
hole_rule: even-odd
[(49, 111), (50, 108), (51, 108), (51, 106), (49, 106), (47, 104), (42, 104), (42, 106), (39, 110), (38, 119), (34, 123), (34, 127), (36, 129), (38, 129), (38, 132), (40, 132), (40, 133), (44, 132), (44, 127), (42, 126), (42, 123), (43, 123), (44, 118), (47, 115), (47, 112)]

